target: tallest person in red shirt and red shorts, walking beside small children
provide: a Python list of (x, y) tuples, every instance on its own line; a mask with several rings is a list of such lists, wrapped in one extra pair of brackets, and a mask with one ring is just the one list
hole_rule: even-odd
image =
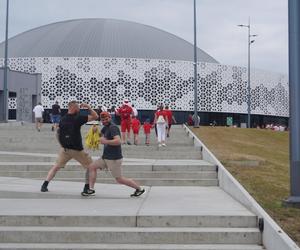
[(123, 105), (116, 110), (116, 114), (121, 117), (121, 134), (122, 134), (122, 144), (126, 143), (126, 132), (127, 132), (127, 144), (130, 143), (130, 127), (131, 127), (131, 116), (133, 115), (133, 110), (129, 105), (127, 99), (124, 100)]

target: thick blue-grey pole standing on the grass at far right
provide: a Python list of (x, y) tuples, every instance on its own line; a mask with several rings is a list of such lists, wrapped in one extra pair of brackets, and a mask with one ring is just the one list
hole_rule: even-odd
[(300, 207), (300, 2), (289, 0), (290, 197), (288, 206)]

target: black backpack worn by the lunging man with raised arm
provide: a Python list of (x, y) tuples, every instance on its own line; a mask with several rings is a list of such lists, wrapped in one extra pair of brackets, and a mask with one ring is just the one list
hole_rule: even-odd
[(58, 141), (63, 148), (72, 149), (74, 143), (74, 120), (73, 117), (65, 115), (59, 122)]

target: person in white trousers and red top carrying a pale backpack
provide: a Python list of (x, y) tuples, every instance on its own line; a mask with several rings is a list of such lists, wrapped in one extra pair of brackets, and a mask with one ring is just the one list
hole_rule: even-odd
[(168, 126), (169, 122), (163, 105), (161, 105), (155, 113), (154, 124), (156, 124), (157, 128), (158, 147), (166, 147), (166, 127)]

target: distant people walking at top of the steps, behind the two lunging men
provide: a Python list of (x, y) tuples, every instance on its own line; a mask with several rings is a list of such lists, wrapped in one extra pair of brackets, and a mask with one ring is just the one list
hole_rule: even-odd
[[(40, 102), (33, 109), (36, 129), (39, 132), (42, 128), (44, 120), (43, 117), (45, 116), (44, 112), (45, 110)], [(50, 112), (50, 121), (52, 123), (51, 130), (56, 131), (61, 119), (61, 107), (58, 101), (52, 105)], [(139, 138), (141, 130), (145, 135), (145, 144), (150, 145), (150, 134), (151, 130), (154, 128), (158, 147), (165, 147), (166, 137), (170, 137), (171, 126), (173, 123), (176, 123), (173, 113), (168, 105), (164, 107), (162, 104), (158, 106), (153, 117), (147, 117), (142, 123), (139, 119), (138, 110), (134, 107), (134, 104), (130, 104), (128, 99), (125, 99), (123, 104), (118, 108), (115, 106), (112, 106), (111, 108), (99, 106), (96, 112), (98, 117), (100, 117), (101, 112), (107, 112), (110, 114), (112, 122), (116, 125), (120, 125), (122, 144), (128, 145), (132, 144), (132, 137), (134, 145), (141, 143)], [(97, 120), (101, 121), (100, 118)]]

